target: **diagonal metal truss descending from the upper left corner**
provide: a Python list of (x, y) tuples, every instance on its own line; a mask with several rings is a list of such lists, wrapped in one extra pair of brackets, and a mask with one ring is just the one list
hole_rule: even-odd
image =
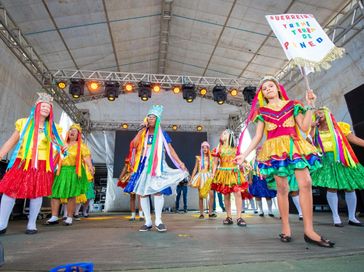
[(59, 92), (56, 88), (52, 88), (51, 72), (2, 6), (0, 6), (0, 38), (41, 87), (54, 97), (55, 101), (70, 118), (80, 123), (84, 128), (87, 128), (88, 120), (84, 118), (70, 97), (64, 92)]

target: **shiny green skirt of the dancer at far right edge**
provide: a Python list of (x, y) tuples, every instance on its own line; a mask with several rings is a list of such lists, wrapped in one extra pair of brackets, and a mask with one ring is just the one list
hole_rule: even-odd
[(364, 189), (364, 167), (360, 163), (355, 168), (336, 162), (333, 152), (322, 157), (323, 167), (314, 172), (312, 185), (337, 190)]

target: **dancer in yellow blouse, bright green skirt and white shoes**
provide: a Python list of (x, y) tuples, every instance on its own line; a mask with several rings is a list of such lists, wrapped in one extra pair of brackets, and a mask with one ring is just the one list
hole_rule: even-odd
[[(91, 152), (82, 141), (82, 128), (73, 124), (66, 136), (67, 156), (59, 162), (57, 175), (52, 186), (52, 217), (47, 224), (58, 223), (60, 199), (67, 199), (67, 219), (65, 225), (72, 225), (73, 214), (76, 208), (76, 197), (85, 194), (88, 180), (83, 163), (86, 164), (91, 175), (94, 167), (91, 162)], [(85, 199), (87, 201), (87, 199)]]

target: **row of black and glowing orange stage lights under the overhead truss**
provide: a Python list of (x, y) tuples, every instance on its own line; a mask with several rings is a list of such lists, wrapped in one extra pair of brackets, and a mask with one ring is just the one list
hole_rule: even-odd
[[(84, 95), (85, 85), (88, 91), (92, 94), (99, 93), (104, 85), (104, 96), (107, 97), (109, 101), (114, 101), (119, 96), (120, 88), (122, 88), (127, 93), (131, 93), (134, 92), (135, 88), (137, 87), (138, 95), (143, 101), (147, 101), (152, 97), (152, 91), (155, 93), (159, 93), (161, 91), (161, 86), (159, 84), (153, 84), (145, 81), (140, 81), (137, 86), (135, 86), (135, 84), (129, 82), (125, 83), (124, 85), (120, 85), (118, 81), (105, 81), (104, 84), (102, 84), (99, 81), (85, 82), (83, 79), (70, 79), (70, 95), (72, 95), (72, 97), (75, 99), (81, 97)], [(64, 90), (67, 87), (67, 81), (58, 81), (57, 86), (58, 88)], [(196, 88), (195, 84), (182, 84), (172, 87), (172, 92), (175, 94), (182, 92), (183, 99), (185, 99), (188, 103), (192, 103), (195, 100), (197, 97), (197, 91), (201, 96), (205, 96), (207, 94), (207, 88)], [(251, 104), (255, 92), (256, 87), (245, 87), (243, 90), (244, 100)], [(222, 85), (216, 85), (212, 89), (214, 101), (216, 101), (219, 105), (225, 103), (228, 93), (231, 96), (237, 96), (239, 90), (236, 88), (231, 88), (228, 90), (226, 86)]]

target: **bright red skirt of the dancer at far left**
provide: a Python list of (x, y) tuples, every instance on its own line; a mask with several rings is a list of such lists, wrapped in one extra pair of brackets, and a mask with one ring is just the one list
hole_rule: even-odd
[(13, 167), (0, 181), (0, 193), (12, 198), (37, 198), (52, 193), (53, 172), (46, 171), (46, 161), (38, 161), (38, 168), (24, 170), (25, 161), (17, 158)]

